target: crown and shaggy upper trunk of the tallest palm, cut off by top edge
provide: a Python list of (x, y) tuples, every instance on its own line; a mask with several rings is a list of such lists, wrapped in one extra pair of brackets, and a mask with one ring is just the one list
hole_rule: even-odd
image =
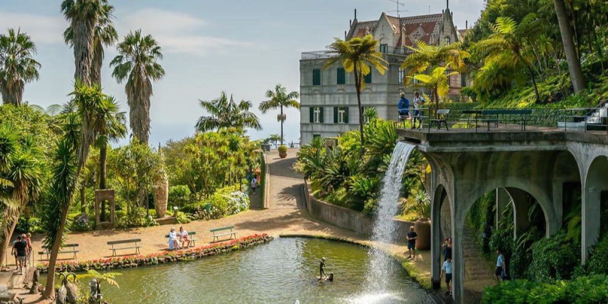
[(92, 79), (95, 27), (107, 3), (107, 0), (64, 0), (61, 3), (61, 11), (72, 29), (74, 78), (87, 85)]

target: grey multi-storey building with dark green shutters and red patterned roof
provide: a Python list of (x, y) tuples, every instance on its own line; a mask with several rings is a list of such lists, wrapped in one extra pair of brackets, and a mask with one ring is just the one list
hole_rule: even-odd
[[(361, 94), (364, 107), (373, 106), (381, 119), (397, 119), (399, 93), (405, 92), (411, 101), (414, 88), (403, 85), (406, 71), (401, 63), (411, 52), (406, 46), (416, 41), (438, 45), (460, 40), (449, 9), (434, 15), (393, 17), (382, 13), (378, 20), (358, 21), (356, 16), (345, 32), (345, 39), (371, 33), (379, 41), (379, 51), (389, 69), (384, 75), (372, 70), (365, 77)], [(354, 75), (345, 73), (342, 66), (323, 69), (329, 54), (326, 50), (303, 52), (300, 60), (300, 137), (305, 145), (313, 137), (336, 137), (345, 131), (358, 128), (359, 110), (354, 87)], [(451, 77), (451, 98), (457, 98), (463, 79)]]

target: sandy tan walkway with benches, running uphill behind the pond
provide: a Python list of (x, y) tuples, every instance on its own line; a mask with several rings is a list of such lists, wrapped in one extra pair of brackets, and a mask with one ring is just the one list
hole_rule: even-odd
[[(268, 156), (269, 170), (271, 173), (271, 199), (269, 209), (261, 209), (260, 193), (252, 198), (252, 209), (241, 212), (238, 215), (229, 216), (223, 219), (210, 221), (193, 221), (184, 224), (188, 231), (196, 231), (199, 242), (197, 246), (212, 241), (210, 229), (214, 227), (235, 226), (238, 237), (252, 235), (254, 233), (268, 233), (269, 235), (319, 235), (326, 237), (350, 238), (354, 241), (369, 243), (368, 240), (357, 235), (350, 230), (341, 229), (331, 224), (323, 223), (311, 218), (305, 209), (303, 201), (303, 177), (293, 170), (295, 153), (297, 150), (289, 150), (288, 157), (281, 159), (276, 151), (272, 151)], [(258, 189), (261, 190), (261, 189)], [(176, 225), (179, 226), (179, 225)], [(167, 249), (167, 234), (170, 226), (155, 226), (147, 228), (137, 228), (130, 230), (98, 230), (93, 232), (75, 232), (67, 235), (66, 243), (80, 244), (80, 252), (77, 260), (94, 260), (98, 258), (111, 257), (106, 242), (112, 240), (124, 240), (128, 238), (142, 239), (142, 254), (150, 254)], [(41, 249), (42, 235), (33, 237), (34, 252)], [(402, 254), (406, 251), (403, 244), (382, 244), (382, 247), (389, 250), (393, 255), (404, 258)], [(128, 250), (122, 254), (130, 255), (133, 252)], [(60, 255), (60, 258), (69, 259), (70, 255)], [(413, 271), (419, 280), (430, 282), (430, 252), (418, 252), (415, 261), (409, 262), (410, 270)], [(36, 256), (36, 260), (38, 257)], [(466, 282), (466, 288), (480, 290), (478, 282)], [(475, 294), (478, 294), (475, 292)], [(27, 303), (27, 302), (26, 302)]]

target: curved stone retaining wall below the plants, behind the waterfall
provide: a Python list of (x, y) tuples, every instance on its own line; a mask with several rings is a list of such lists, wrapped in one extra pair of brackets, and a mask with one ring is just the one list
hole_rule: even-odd
[[(353, 230), (354, 232), (363, 235), (369, 236), (373, 233), (373, 219), (368, 218), (362, 212), (328, 204), (316, 199), (313, 195), (313, 190), (306, 179), (304, 180), (303, 192), (306, 201), (306, 209), (308, 209), (308, 213), (310, 213), (313, 218), (333, 224), (334, 226)], [(396, 218), (393, 219), (393, 221), (395, 221), (398, 232), (396, 240), (405, 242), (407, 232), (414, 223)]]

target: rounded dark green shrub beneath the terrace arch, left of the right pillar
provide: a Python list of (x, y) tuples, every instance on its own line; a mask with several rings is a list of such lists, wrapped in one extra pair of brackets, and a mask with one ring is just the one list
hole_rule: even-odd
[(558, 233), (550, 238), (542, 238), (532, 245), (532, 263), (528, 269), (531, 280), (547, 282), (572, 277), (580, 263), (579, 244)]

